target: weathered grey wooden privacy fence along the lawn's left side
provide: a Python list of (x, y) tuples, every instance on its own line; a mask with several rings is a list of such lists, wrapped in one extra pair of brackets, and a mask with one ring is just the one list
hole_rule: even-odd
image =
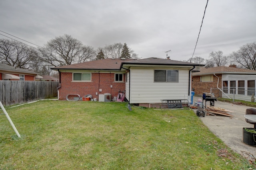
[(0, 80), (0, 100), (4, 106), (58, 96), (59, 82)]

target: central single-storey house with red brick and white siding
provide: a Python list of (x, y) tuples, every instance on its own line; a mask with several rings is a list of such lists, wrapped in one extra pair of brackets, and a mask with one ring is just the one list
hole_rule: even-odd
[(190, 98), (191, 70), (202, 64), (160, 59), (102, 59), (52, 68), (60, 74), (59, 100), (69, 94), (85, 96), (126, 91), (130, 104), (149, 107), (162, 100)]

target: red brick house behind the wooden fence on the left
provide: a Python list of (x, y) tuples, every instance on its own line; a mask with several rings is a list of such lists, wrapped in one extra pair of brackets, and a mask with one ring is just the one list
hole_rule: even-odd
[(0, 80), (35, 81), (36, 78), (42, 78), (40, 73), (0, 63)]

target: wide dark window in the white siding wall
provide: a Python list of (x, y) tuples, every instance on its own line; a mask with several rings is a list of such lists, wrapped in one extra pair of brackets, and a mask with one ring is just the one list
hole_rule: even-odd
[(178, 82), (178, 70), (154, 70), (154, 82)]

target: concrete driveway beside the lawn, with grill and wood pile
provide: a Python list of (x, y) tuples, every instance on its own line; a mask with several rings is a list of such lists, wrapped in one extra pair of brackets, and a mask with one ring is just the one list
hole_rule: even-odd
[[(193, 104), (199, 98), (202, 99), (202, 97), (194, 96)], [(210, 105), (210, 102), (206, 102), (206, 105)], [(202, 122), (228, 147), (254, 162), (254, 156), (256, 157), (256, 147), (243, 143), (242, 131), (243, 127), (254, 127), (254, 125), (247, 123), (244, 118), (246, 109), (252, 107), (221, 101), (215, 101), (214, 106), (234, 111), (234, 113), (231, 113), (234, 117), (205, 115), (205, 117), (200, 117)], [(193, 110), (196, 113), (197, 109)]]

